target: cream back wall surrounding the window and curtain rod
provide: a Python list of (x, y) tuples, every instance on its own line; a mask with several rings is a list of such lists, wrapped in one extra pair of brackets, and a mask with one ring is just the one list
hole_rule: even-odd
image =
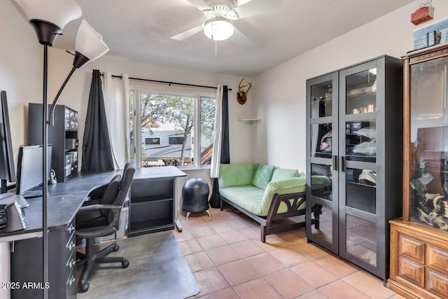
[[(53, 48), (50, 49), (49, 56), (49, 94), (50, 99), (52, 99), (62, 85), (66, 75), (69, 74), (73, 57), (64, 50)], [(240, 105), (237, 102), (238, 83), (243, 77), (137, 62), (111, 55), (100, 57), (98, 60), (94, 60), (78, 69), (59, 98), (58, 104), (65, 104), (79, 112), (78, 137), (80, 146), (83, 144), (85, 116), (93, 69), (99, 69), (101, 72), (110, 71), (115, 75), (128, 74), (128, 76), (134, 78), (209, 86), (228, 85), (228, 88), (232, 88), (232, 91), (229, 92), (230, 160), (232, 162), (251, 160), (250, 140), (252, 127), (238, 121), (239, 118), (251, 117), (251, 94), (248, 94), (246, 104)], [(248, 79), (250, 81), (250, 78)]]

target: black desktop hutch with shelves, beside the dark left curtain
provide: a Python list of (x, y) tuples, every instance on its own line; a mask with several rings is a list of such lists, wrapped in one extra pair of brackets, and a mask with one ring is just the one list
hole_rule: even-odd
[[(29, 103), (28, 144), (42, 144), (42, 104)], [(50, 105), (48, 105), (50, 110)], [(64, 105), (55, 107), (55, 125), (48, 126), (52, 145), (51, 168), (58, 182), (78, 172), (78, 112)]]

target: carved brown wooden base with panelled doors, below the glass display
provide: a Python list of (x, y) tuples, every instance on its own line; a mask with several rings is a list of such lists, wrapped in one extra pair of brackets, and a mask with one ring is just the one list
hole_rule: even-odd
[(407, 298), (448, 298), (448, 238), (420, 223), (391, 221), (388, 287)]

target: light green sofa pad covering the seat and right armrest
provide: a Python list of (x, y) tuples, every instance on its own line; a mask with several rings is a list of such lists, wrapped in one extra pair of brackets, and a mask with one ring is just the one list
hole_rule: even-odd
[[(267, 184), (266, 190), (262, 190), (251, 185), (226, 188), (222, 188), (220, 186), (219, 192), (223, 197), (239, 205), (239, 207), (242, 207), (246, 211), (250, 211), (252, 214), (258, 216), (267, 216), (267, 212), (271, 207), (274, 194), (278, 193), (283, 195), (288, 193), (304, 192), (305, 188), (305, 178), (297, 177), (270, 182)], [(304, 208), (305, 203), (299, 207), (299, 209)], [(284, 213), (286, 211), (286, 204), (281, 202), (277, 213)]]

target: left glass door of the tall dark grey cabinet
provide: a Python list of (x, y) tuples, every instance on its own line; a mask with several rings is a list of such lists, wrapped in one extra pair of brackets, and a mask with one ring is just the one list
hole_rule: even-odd
[[(337, 253), (337, 73), (307, 81), (307, 237)], [(336, 192), (336, 193), (335, 193)], [(311, 214), (311, 207), (321, 213)], [(314, 222), (317, 224), (311, 224)]]

